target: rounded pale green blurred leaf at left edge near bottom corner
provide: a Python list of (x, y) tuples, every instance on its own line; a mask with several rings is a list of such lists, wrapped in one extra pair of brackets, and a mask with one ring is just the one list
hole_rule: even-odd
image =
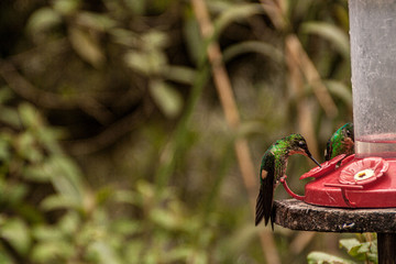
[(31, 246), (29, 227), (19, 218), (8, 219), (0, 228), (0, 235), (22, 255), (25, 255)]

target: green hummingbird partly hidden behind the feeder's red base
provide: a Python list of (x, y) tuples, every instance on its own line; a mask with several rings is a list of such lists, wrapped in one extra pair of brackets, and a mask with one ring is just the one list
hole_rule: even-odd
[(351, 155), (354, 153), (354, 134), (353, 123), (345, 123), (338, 129), (327, 143), (324, 151), (324, 160), (330, 161), (331, 158), (346, 154)]

